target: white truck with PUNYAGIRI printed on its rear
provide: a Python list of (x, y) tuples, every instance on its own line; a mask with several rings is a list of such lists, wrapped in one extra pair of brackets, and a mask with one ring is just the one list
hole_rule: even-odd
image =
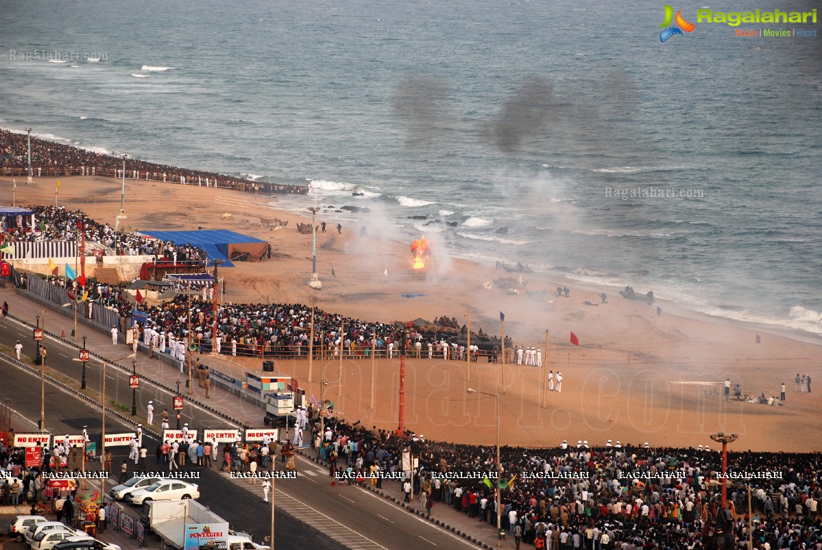
[[(151, 501), (143, 505), (140, 521), (162, 539), (163, 548), (182, 550), (186, 546), (186, 525), (227, 524), (228, 521), (191, 499), (182, 501)], [(270, 550), (256, 544), (246, 533), (229, 529), (224, 550)]]

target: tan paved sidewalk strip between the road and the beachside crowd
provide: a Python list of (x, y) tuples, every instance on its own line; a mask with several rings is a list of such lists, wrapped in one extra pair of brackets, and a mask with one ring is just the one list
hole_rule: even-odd
[[(8, 316), (10, 318), (27, 323), (32, 327), (35, 324), (35, 316), (40, 315), (42, 323), (43, 310), (48, 307), (53, 307), (53, 305), (39, 305), (33, 300), (27, 300), (24, 296), (18, 295), (14, 289), (9, 288), (0, 289), (0, 301), (2, 300), (6, 300), (8, 302)], [(62, 316), (56, 311), (48, 311), (45, 315), (47, 340), (56, 338), (57, 340), (63, 341), (68, 345), (74, 345), (71, 337), (71, 331), (72, 328), (74, 328), (73, 311), (70, 308), (66, 308), (65, 311), (60, 313), (66, 314), (67, 316)], [(68, 316), (69, 314), (71, 314), (70, 317)], [(67, 335), (66, 337), (61, 337), (63, 331), (65, 331), (65, 334)], [(90, 355), (97, 356), (100, 359), (116, 359), (118, 357), (122, 357), (123, 355), (127, 355), (127, 353), (131, 351), (129, 346), (125, 346), (123, 344), (114, 346), (109, 334), (97, 332), (94, 328), (85, 326), (78, 322), (78, 343), (76, 344), (78, 349), (82, 346), (82, 336), (86, 337), (85, 346), (90, 350)], [(24, 342), (24, 346), (23, 355), (33, 356), (33, 342)], [(201, 362), (203, 363), (214, 365), (220, 364), (221, 366), (219, 367), (219, 370), (225, 372), (226, 374), (236, 373), (240, 375), (242, 373), (242, 375), (244, 375), (246, 370), (256, 370), (255, 366), (252, 366), (252, 363), (247, 365), (244, 363), (253, 361), (253, 365), (256, 365), (260, 362), (258, 359), (254, 358), (218, 358), (210, 355), (201, 355), (201, 357)], [(243, 400), (240, 396), (235, 395), (235, 392), (227, 392), (222, 389), (215, 388), (212, 390), (210, 398), (206, 399), (205, 390), (203, 388), (196, 387), (195, 379), (192, 381), (193, 387), (191, 388), (194, 394), (189, 395), (188, 389), (185, 387), (187, 374), (181, 374), (178, 368), (172, 367), (161, 360), (149, 359), (143, 353), (137, 354), (136, 364), (137, 374), (140, 374), (141, 378), (150, 380), (152, 383), (157, 384), (159, 387), (163, 387), (168, 392), (176, 392), (177, 381), (180, 380), (182, 382), (180, 392), (183, 396), (185, 396), (186, 401), (196, 403), (196, 405), (201, 406), (206, 410), (215, 412), (229, 422), (233, 422), (244, 427), (258, 427), (262, 424), (265, 411), (253, 406), (252, 403)], [(131, 369), (125, 370), (131, 371)], [(76, 385), (79, 387), (79, 383)], [(162, 415), (162, 411), (163, 407), (156, 407), (155, 423), (148, 424), (145, 418), (145, 404), (139, 404), (137, 409), (138, 415), (135, 417), (128, 416), (127, 419), (131, 419), (135, 424), (142, 423), (146, 432), (159, 432), (159, 419)], [(173, 411), (169, 411), (169, 413), (171, 412)], [(170, 416), (173, 418), (173, 415)], [(159, 437), (159, 433), (157, 434), (157, 437)], [(301, 452), (309, 460), (318, 462), (316, 460), (316, 453), (311, 448), (303, 447)], [(410, 506), (402, 502), (403, 495), (399, 491), (399, 483), (396, 484), (396, 486), (386, 483), (382, 489), (372, 489), (368, 486), (367, 490), (371, 490), (373, 493), (381, 495), (381, 497), (386, 498), (387, 501), (393, 502), (397, 506), (402, 506), (407, 510), (418, 514), (419, 516), (425, 517), (424, 511), (421, 512), (418, 510), (419, 502), (416, 499)], [(21, 513), (27, 513), (27, 511), (28, 510), (26, 509)], [(483, 548), (497, 548), (496, 529), (494, 529), (492, 525), (481, 524), (476, 518), (469, 519), (466, 514), (455, 511), (454, 508), (446, 506), (446, 504), (442, 502), (436, 503), (432, 509), (432, 516), (427, 518), (427, 520), (432, 521), (437, 525), (441, 525), (445, 529), (449, 529), (453, 533), (462, 536), (464, 539), (478, 544), (478, 546)], [(137, 548), (136, 540), (127, 539), (125, 534), (115, 533), (113, 532), (113, 529), (110, 528), (107, 529), (105, 533), (106, 537), (112, 538), (111, 542), (122, 546), (124, 549)], [(106, 538), (105, 540), (109, 540), (109, 538)], [(502, 547), (513, 548), (513, 539), (506, 537), (506, 541), (503, 541)]]

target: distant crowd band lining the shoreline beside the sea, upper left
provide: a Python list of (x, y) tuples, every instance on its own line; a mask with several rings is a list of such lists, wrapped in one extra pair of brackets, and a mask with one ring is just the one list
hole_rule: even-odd
[[(0, 173), (25, 176), (29, 166), (25, 134), (0, 129)], [(122, 157), (100, 154), (67, 144), (31, 138), (31, 167), (35, 177), (106, 176), (122, 177)], [(126, 158), (127, 179), (169, 181), (183, 185), (229, 187), (253, 193), (306, 194), (308, 186), (251, 181), (215, 172), (188, 170), (166, 164)]]

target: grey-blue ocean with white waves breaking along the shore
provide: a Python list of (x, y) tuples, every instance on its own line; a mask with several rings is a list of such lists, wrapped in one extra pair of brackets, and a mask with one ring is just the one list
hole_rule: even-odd
[(0, 126), (312, 181), (326, 208), (371, 209), (335, 213), (345, 227), (822, 334), (822, 37), (699, 24), (662, 44), (662, 18), (586, 0), (3, 2)]

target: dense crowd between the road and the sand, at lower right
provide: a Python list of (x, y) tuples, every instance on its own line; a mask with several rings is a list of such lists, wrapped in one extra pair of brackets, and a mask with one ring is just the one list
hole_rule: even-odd
[[(353, 470), (354, 479), (377, 484), (368, 475), (375, 467), (399, 471), (399, 456), (410, 445), (420, 460), (413, 494), (426, 493), (421, 506), (452, 506), (478, 522), (496, 524), (492, 483), (475, 476), (495, 470), (494, 447), (427, 442), (410, 432), (399, 438), (330, 415), (321, 436), (314, 406), (310, 415), (318, 456), (333, 460), (336, 470)], [(503, 447), (501, 469), (506, 488), (500, 526), (511, 536), (519, 525), (524, 543), (552, 539), (539, 548), (702, 548), (709, 519), (724, 520), (717, 484), (722, 455), (707, 446), (649, 448), (609, 440), (594, 447), (587, 441), (543, 449)], [(819, 548), (813, 545), (822, 543), (822, 456), (733, 452), (727, 471), (738, 476), (727, 479), (732, 512), (727, 529), (737, 535), (739, 548), (746, 548), (748, 536), (749, 487), (755, 548)], [(469, 477), (449, 479), (446, 472)]]

